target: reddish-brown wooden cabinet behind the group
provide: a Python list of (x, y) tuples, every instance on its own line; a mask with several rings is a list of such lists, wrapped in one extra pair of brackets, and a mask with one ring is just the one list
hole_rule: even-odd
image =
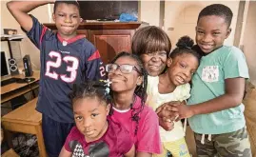
[[(56, 29), (54, 24), (44, 25), (49, 29)], [(87, 39), (99, 49), (103, 62), (107, 64), (118, 52), (130, 52), (131, 38), (134, 32), (145, 26), (148, 26), (148, 23), (83, 23), (78, 27), (77, 32), (87, 36)]]

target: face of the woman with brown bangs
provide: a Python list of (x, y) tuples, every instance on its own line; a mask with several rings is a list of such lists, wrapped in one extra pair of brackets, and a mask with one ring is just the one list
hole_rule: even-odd
[(166, 69), (167, 52), (165, 50), (144, 53), (141, 58), (150, 76), (158, 76)]

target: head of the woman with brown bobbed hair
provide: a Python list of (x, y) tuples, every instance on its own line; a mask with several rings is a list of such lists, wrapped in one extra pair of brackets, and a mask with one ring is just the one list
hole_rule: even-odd
[(158, 76), (165, 71), (171, 44), (163, 29), (155, 26), (138, 29), (132, 37), (131, 49), (142, 58), (148, 75)]

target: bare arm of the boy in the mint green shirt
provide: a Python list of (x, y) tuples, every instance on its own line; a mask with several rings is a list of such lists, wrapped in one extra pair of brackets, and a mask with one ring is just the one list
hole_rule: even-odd
[(227, 108), (235, 108), (242, 103), (245, 91), (245, 82), (245, 78), (226, 79), (226, 93), (224, 95), (198, 105), (172, 106), (171, 110), (178, 111), (180, 118), (189, 118), (196, 114), (207, 114)]

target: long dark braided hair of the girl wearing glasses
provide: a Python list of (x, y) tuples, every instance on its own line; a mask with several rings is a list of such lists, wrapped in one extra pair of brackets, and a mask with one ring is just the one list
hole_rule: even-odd
[(126, 51), (122, 51), (118, 53), (110, 63), (113, 64), (118, 58), (121, 58), (121, 57), (129, 57), (135, 60), (139, 66), (139, 70), (141, 71), (140, 75), (143, 76), (143, 84), (140, 86), (137, 86), (134, 91), (134, 93), (141, 98), (141, 107), (133, 108), (133, 103), (130, 105), (130, 108), (132, 109), (131, 120), (136, 122), (136, 128), (134, 131), (134, 134), (136, 135), (138, 131), (139, 120), (140, 120), (139, 114), (144, 109), (146, 99), (147, 99), (148, 72), (146, 69), (144, 69), (143, 62), (138, 55), (128, 53)]

